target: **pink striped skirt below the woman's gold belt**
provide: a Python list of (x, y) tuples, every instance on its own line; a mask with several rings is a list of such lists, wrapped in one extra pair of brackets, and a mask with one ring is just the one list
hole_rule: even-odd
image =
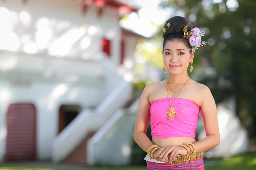
[(195, 160), (178, 164), (147, 162), (147, 170), (204, 170), (203, 157)]

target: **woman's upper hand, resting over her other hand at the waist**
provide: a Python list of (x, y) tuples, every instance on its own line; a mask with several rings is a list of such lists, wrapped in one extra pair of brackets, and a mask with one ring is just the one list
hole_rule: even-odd
[[(163, 149), (163, 150), (162, 150)], [(168, 147), (161, 148), (162, 152), (160, 153), (160, 158), (163, 158), (163, 160), (166, 160), (166, 158), (169, 157), (169, 164), (172, 163), (172, 161), (175, 161), (177, 158), (176, 156), (182, 155), (185, 156), (187, 154), (187, 150), (184, 147), (171, 145)]]

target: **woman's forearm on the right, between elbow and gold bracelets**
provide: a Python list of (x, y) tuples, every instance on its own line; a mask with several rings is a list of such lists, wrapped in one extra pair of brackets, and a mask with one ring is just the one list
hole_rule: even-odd
[(204, 152), (211, 149), (212, 147), (218, 146), (220, 143), (220, 137), (218, 135), (209, 135), (198, 142), (194, 142), (195, 152)]

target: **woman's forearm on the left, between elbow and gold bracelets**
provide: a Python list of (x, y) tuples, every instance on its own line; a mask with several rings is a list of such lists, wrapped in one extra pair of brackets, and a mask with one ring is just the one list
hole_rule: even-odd
[(134, 141), (145, 151), (148, 152), (148, 148), (153, 145), (153, 143), (148, 139), (143, 132), (134, 132)]

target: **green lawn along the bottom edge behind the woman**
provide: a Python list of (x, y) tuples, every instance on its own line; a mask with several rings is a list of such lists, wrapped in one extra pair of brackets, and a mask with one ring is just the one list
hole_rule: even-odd
[[(233, 156), (229, 159), (204, 159), (206, 170), (256, 170), (256, 154)], [(145, 170), (146, 167), (105, 167), (75, 170)], [(0, 170), (64, 170), (29, 167), (0, 167)]]

